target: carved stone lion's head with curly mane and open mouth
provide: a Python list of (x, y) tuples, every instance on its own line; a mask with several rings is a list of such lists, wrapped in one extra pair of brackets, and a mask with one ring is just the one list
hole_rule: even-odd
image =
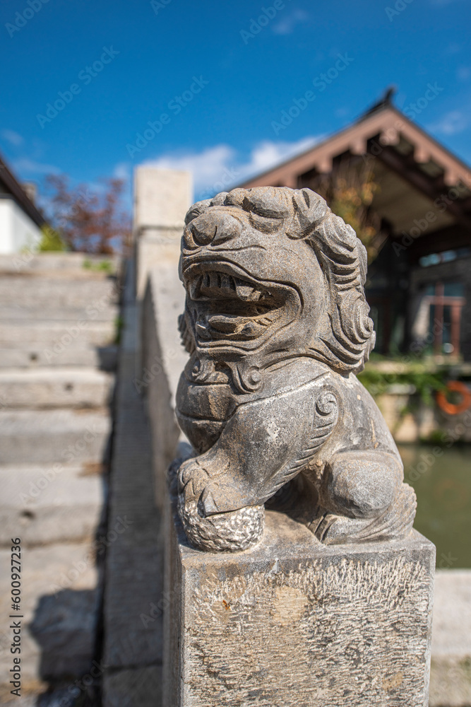
[(187, 346), (258, 369), (310, 356), (357, 373), (375, 339), (365, 276), (364, 246), (311, 189), (233, 189), (198, 201), (181, 244)]

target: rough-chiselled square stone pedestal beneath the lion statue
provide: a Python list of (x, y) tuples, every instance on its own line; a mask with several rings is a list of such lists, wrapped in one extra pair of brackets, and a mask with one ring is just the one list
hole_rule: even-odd
[(210, 554), (168, 523), (164, 707), (428, 705), (422, 535), (326, 547), (268, 512), (256, 547)]

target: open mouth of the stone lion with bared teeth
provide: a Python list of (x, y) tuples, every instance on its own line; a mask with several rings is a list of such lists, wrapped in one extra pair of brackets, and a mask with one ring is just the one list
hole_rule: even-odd
[(287, 286), (262, 284), (228, 264), (191, 270), (186, 288), (198, 339), (254, 339), (280, 318)]

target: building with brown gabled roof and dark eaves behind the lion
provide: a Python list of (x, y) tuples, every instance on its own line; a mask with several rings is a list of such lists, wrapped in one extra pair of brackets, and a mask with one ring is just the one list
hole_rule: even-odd
[(376, 351), (471, 361), (471, 170), (417, 127), (390, 92), (321, 144), (240, 185), (309, 187), (367, 170), (381, 233), (366, 293)]

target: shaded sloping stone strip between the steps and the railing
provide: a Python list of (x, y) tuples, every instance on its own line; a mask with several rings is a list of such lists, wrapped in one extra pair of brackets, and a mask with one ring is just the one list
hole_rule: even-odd
[[(131, 269), (129, 269), (131, 272)], [(158, 707), (162, 665), (162, 536), (155, 506), (150, 429), (134, 383), (137, 323), (133, 286), (124, 292), (103, 606), (103, 705)]]

